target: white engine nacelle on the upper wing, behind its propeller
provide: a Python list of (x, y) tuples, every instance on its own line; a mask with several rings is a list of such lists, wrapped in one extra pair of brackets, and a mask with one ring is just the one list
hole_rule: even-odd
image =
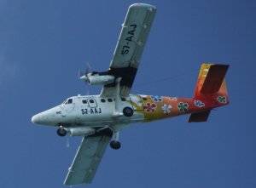
[(106, 85), (108, 83), (113, 83), (114, 77), (111, 75), (88, 75), (87, 82), (90, 85)]

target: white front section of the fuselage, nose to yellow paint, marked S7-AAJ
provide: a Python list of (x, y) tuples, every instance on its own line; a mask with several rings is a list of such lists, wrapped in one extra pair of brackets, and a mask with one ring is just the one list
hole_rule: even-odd
[[(139, 95), (130, 95), (121, 98), (116, 103), (114, 98), (101, 98), (99, 95), (78, 95), (65, 100), (61, 105), (57, 105), (47, 111), (43, 111), (32, 117), (32, 122), (38, 124), (64, 127), (105, 127), (129, 122), (141, 122), (144, 120), (142, 113), (138, 113), (136, 106), (132, 102), (140, 104)], [(132, 117), (125, 117), (122, 110), (125, 107), (134, 110)], [(119, 115), (116, 115), (119, 112)]]

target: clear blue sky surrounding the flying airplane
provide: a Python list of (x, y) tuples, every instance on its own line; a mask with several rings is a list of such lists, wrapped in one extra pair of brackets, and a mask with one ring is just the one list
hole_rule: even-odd
[[(131, 3), (0, 0), (0, 187), (64, 187), (80, 138), (67, 148), (31, 117), (86, 94), (78, 71), (108, 68)], [(158, 12), (132, 92), (189, 97), (201, 62), (228, 63), (230, 105), (205, 123), (184, 116), (125, 129), (90, 187), (255, 187), (255, 1), (143, 3)]]

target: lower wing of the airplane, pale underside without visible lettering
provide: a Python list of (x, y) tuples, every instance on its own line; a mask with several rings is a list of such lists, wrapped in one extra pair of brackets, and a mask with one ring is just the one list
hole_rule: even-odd
[(90, 184), (111, 136), (112, 133), (105, 132), (83, 138), (64, 185)]

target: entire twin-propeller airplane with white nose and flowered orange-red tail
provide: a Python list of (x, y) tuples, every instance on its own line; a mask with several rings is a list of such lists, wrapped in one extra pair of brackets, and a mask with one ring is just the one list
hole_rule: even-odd
[(57, 128), (59, 136), (82, 136), (64, 185), (90, 184), (108, 146), (121, 147), (119, 132), (134, 122), (151, 122), (190, 114), (189, 122), (206, 122), (212, 109), (228, 105), (225, 74), (229, 65), (203, 63), (192, 98), (130, 94), (156, 7), (132, 4), (108, 71), (86, 72), (80, 79), (102, 85), (96, 95), (68, 97), (61, 105), (32, 117)]

